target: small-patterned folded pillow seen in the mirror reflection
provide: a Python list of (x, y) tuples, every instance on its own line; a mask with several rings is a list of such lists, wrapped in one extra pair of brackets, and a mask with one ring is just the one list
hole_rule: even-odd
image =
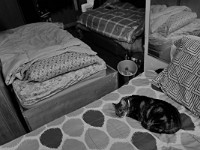
[(170, 33), (184, 27), (197, 18), (197, 14), (190, 11), (181, 11), (175, 15), (170, 16), (165, 23), (163, 23), (157, 32), (163, 36), (168, 36)]

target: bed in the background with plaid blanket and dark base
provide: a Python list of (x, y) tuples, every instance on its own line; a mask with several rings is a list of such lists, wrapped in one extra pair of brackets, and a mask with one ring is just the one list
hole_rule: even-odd
[(131, 59), (134, 53), (143, 54), (144, 14), (144, 8), (131, 1), (106, 1), (82, 13), (77, 30), (88, 44), (103, 48), (113, 59)]

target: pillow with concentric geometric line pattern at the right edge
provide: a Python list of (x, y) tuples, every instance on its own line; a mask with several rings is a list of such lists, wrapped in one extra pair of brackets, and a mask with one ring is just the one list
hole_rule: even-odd
[(200, 38), (183, 37), (174, 45), (177, 49), (172, 62), (152, 83), (200, 116)]

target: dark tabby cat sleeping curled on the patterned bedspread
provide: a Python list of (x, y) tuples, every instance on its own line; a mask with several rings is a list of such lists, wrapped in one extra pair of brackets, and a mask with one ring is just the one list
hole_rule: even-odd
[(173, 134), (181, 128), (180, 113), (163, 100), (132, 95), (123, 97), (118, 104), (113, 105), (118, 117), (136, 119), (149, 131)]

